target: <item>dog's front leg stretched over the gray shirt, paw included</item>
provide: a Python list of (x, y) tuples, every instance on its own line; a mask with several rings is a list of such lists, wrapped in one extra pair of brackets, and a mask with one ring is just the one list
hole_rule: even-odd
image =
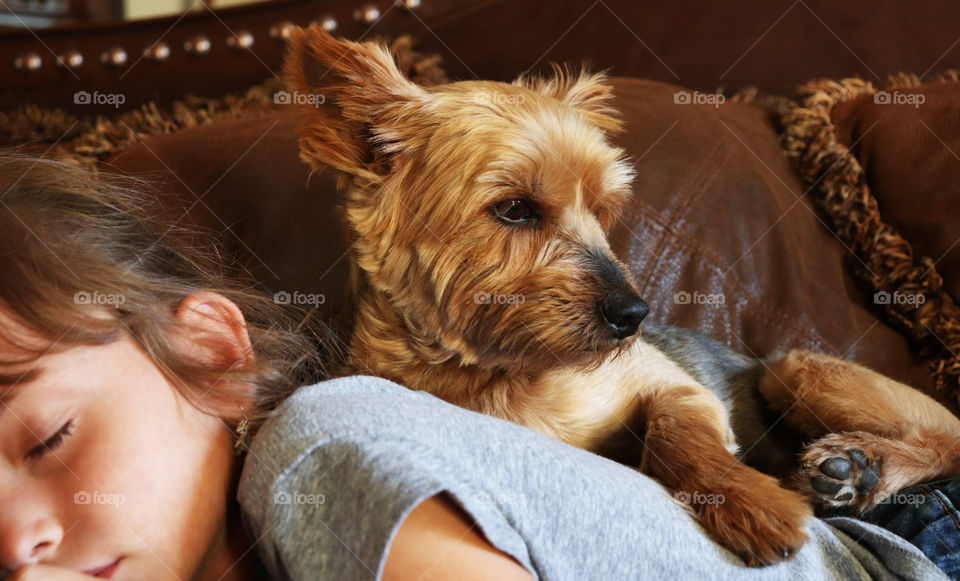
[(669, 387), (643, 398), (641, 471), (687, 503), (713, 536), (749, 565), (790, 558), (807, 538), (810, 507), (728, 450), (726, 411), (707, 388)]

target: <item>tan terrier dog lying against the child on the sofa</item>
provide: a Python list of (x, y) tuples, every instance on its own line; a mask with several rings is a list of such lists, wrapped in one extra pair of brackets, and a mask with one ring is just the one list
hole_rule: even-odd
[[(683, 329), (639, 336), (647, 305), (606, 238), (633, 170), (603, 76), (424, 88), (384, 47), (316, 26), (285, 73), (326, 101), (301, 157), (346, 178), (356, 372), (636, 466), (751, 565), (793, 555), (811, 508), (738, 441), (824, 506), (960, 472), (960, 420), (908, 386), (813, 353), (761, 363)], [(819, 439), (799, 471), (764, 437), (761, 399)]]

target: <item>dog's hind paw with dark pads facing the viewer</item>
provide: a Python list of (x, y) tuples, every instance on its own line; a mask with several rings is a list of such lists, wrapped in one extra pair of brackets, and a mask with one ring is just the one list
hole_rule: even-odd
[(876, 504), (882, 458), (871, 445), (875, 436), (830, 434), (807, 446), (800, 462), (800, 490), (816, 505), (865, 511)]

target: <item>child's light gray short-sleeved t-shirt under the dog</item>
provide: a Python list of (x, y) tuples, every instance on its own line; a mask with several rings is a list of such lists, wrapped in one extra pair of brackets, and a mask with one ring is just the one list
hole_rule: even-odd
[(238, 499), (275, 579), (380, 579), (390, 542), (447, 492), (534, 579), (946, 579), (883, 529), (815, 520), (792, 561), (750, 569), (654, 480), (373, 377), (300, 388), (261, 428)]

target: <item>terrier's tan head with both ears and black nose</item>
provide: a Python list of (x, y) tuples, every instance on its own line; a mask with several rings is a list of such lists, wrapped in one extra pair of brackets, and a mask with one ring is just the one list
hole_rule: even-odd
[(606, 234), (633, 172), (600, 76), (425, 89), (381, 47), (294, 36), (291, 90), (324, 95), (303, 158), (351, 176), (365, 283), (465, 363), (599, 364), (647, 313)]

